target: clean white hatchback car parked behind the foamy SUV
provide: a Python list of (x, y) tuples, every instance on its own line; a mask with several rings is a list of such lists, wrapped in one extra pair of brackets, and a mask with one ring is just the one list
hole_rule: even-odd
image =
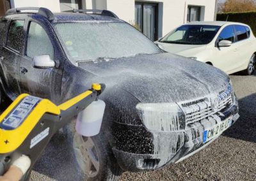
[(252, 29), (236, 22), (192, 22), (156, 41), (173, 54), (206, 62), (227, 74), (256, 66), (256, 40)]

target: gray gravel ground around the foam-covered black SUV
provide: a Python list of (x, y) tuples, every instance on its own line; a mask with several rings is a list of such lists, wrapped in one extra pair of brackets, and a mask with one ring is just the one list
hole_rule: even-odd
[[(209, 147), (181, 163), (120, 180), (256, 180), (256, 75), (230, 76), (240, 119)], [(58, 133), (38, 161), (31, 180), (81, 180), (67, 136)]]

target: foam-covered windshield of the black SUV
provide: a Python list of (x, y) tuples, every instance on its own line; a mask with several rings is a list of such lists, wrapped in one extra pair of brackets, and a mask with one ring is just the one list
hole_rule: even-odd
[(56, 24), (56, 29), (72, 62), (161, 52), (146, 36), (123, 22), (62, 22)]

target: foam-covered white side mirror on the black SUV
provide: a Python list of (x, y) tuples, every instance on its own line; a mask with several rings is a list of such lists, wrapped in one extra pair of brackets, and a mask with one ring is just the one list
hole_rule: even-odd
[(50, 55), (39, 55), (33, 58), (33, 68), (54, 68), (55, 62), (52, 61)]

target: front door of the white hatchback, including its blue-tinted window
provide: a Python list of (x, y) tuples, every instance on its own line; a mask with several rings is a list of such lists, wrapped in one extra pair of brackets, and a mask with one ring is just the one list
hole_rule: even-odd
[[(221, 40), (228, 40), (232, 42), (230, 47), (218, 47), (218, 42)], [(235, 68), (237, 45), (235, 43), (236, 36), (233, 25), (227, 25), (218, 36), (216, 46), (213, 50), (211, 62), (213, 66), (220, 68), (226, 73), (230, 73)]]

